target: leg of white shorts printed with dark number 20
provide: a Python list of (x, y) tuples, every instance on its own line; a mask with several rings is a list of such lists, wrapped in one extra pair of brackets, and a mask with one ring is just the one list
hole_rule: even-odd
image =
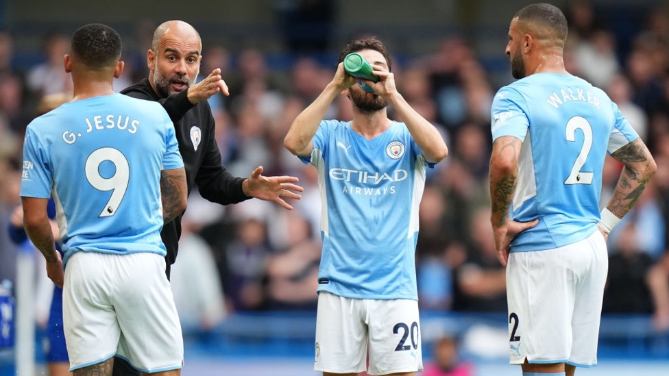
[(423, 370), (418, 302), (368, 300), (370, 375)]

